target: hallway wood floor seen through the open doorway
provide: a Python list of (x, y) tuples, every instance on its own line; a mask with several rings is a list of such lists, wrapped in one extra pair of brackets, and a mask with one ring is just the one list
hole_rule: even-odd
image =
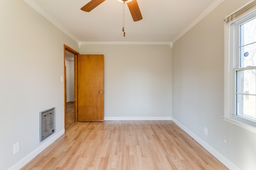
[(65, 119), (65, 130), (68, 130), (76, 122), (74, 121), (74, 102), (68, 102), (66, 104), (66, 119)]

